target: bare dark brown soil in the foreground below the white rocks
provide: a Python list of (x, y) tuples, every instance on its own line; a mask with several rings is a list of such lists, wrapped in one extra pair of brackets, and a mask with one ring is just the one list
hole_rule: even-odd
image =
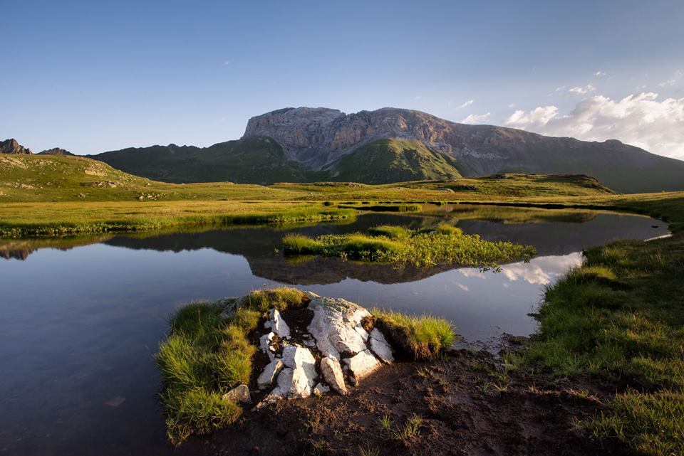
[[(506, 376), (484, 351), (452, 351), (442, 360), (385, 366), (349, 396), (331, 393), (246, 410), (232, 428), (191, 439), (177, 453), (623, 455), (618, 443), (598, 442), (574, 425), (601, 410), (600, 397), (589, 386)], [(414, 413), (423, 418), (420, 434), (399, 438), (397, 431)], [(389, 431), (380, 424), (385, 414), (393, 423)]]

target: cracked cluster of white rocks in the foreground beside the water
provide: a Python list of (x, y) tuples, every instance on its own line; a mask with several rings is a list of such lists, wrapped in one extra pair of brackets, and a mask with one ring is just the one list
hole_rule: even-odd
[[(394, 361), (392, 348), (380, 330), (373, 328), (368, 334), (363, 329), (363, 320), (371, 316), (368, 310), (345, 299), (307, 295), (311, 301), (306, 309), (296, 311), (300, 312), (297, 326), (286, 322), (287, 310), (271, 309), (264, 329), (257, 334), (259, 348), (269, 359), (258, 367), (254, 394), (266, 391), (266, 396), (257, 408), (331, 390), (346, 395), (349, 386)], [(215, 304), (222, 307), (222, 317), (230, 318), (243, 299), (222, 299)], [(302, 322), (301, 312), (309, 314), (311, 321)], [(247, 403), (252, 395), (245, 388), (234, 388), (224, 397)]]

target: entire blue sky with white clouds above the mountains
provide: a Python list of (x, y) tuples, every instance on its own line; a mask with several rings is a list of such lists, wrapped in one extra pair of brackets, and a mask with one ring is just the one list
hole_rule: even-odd
[(207, 146), (280, 107), (392, 106), (684, 158), (680, 0), (0, 8), (0, 139), (34, 152)]

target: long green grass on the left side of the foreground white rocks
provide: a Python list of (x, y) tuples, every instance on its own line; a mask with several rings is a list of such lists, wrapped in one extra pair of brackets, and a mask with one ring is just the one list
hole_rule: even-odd
[(178, 445), (192, 434), (212, 433), (233, 423), (242, 408), (224, 394), (249, 384), (257, 346), (250, 336), (268, 309), (299, 307), (306, 295), (293, 288), (251, 292), (226, 319), (224, 307), (187, 304), (170, 319), (171, 332), (160, 344), (157, 367), (164, 378), (162, 403), (167, 435)]

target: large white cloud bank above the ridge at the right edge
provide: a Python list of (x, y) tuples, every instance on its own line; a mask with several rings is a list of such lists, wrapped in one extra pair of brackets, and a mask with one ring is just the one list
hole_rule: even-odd
[(654, 92), (622, 100), (594, 95), (581, 100), (567, 115), (561, 115), (556, 106), (517, 110), (504, 125), (586, 141), (619, 139), (655, 154), (684, 159), (684, 98), (658, 101)]

